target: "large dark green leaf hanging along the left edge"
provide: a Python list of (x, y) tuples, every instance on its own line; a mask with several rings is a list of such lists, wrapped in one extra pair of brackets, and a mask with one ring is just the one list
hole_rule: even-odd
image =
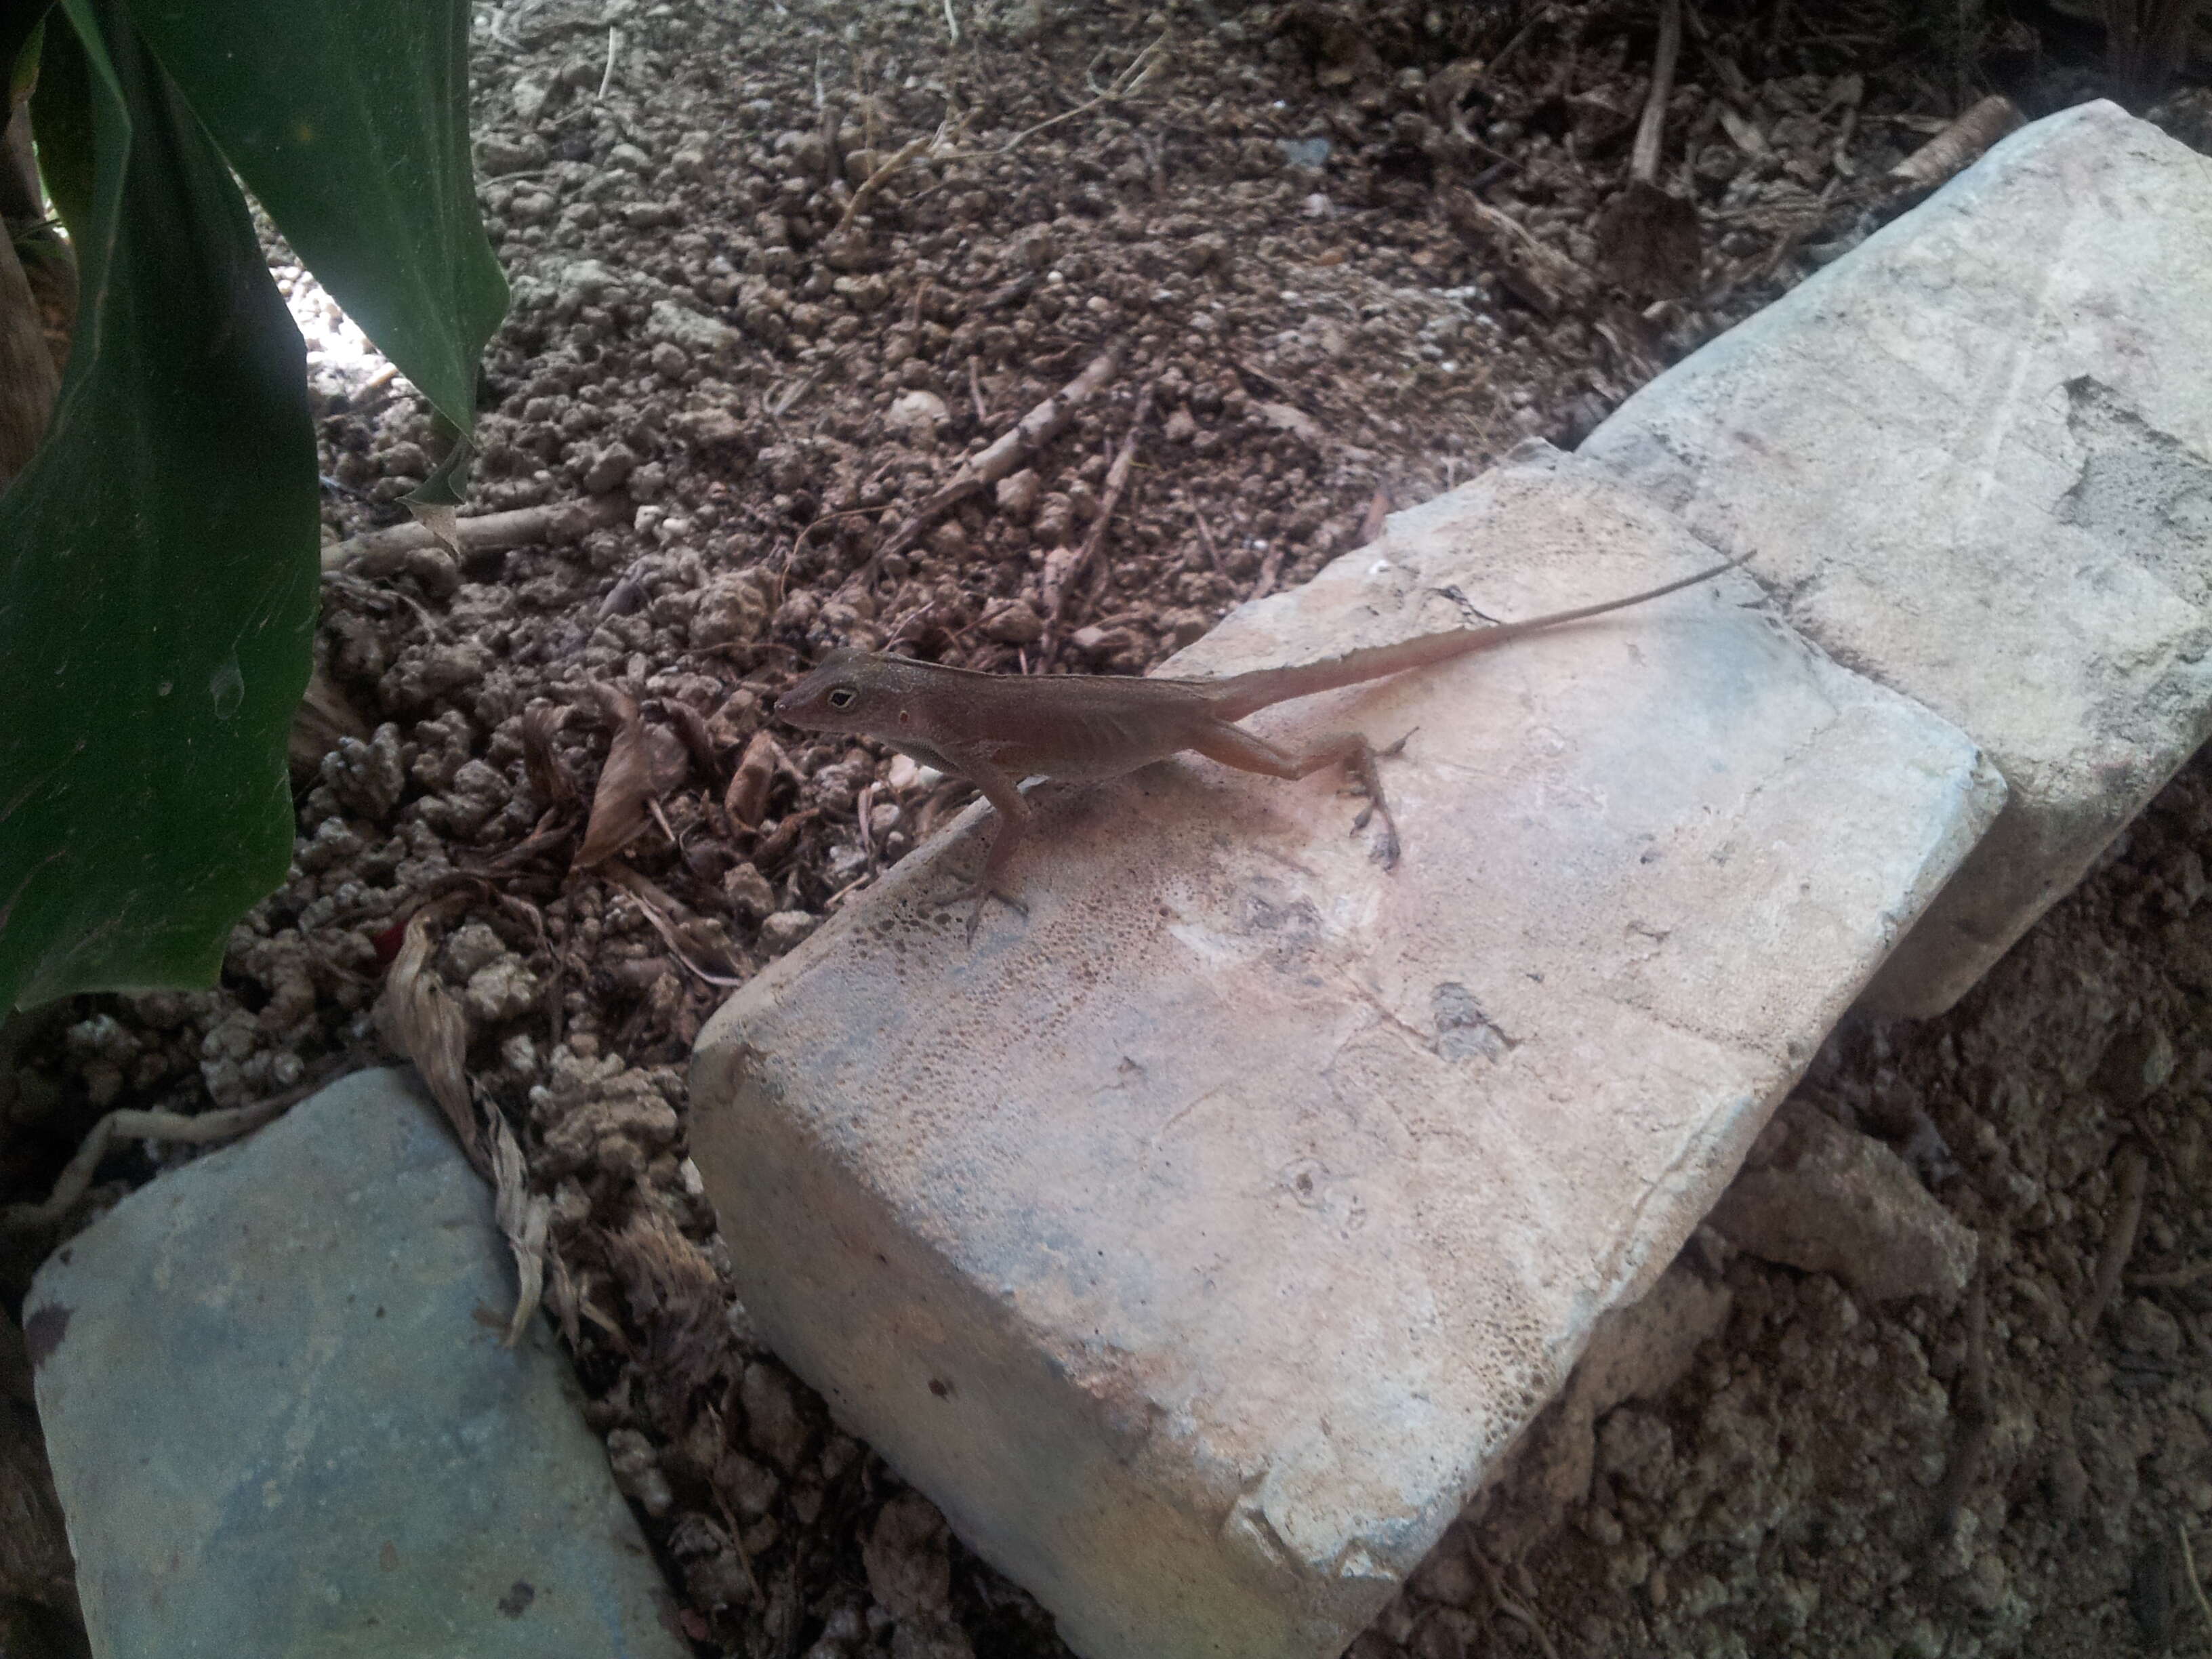
[(0, 495), (0, 1009), (212, 982), (290, 863), (319, 566), (305, 347), (119, 0), (49, 18), (33, 122), (91, 168), (62, 398)]

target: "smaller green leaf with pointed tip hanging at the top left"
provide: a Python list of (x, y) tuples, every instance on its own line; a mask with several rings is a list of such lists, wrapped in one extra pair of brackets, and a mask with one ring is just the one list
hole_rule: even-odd
[(462, 434), (507, 314), (469, 164), (467, 0), (128, 0), (316, 281)]

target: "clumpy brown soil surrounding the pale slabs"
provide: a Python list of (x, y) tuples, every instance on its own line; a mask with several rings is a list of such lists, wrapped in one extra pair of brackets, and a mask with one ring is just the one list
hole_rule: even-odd
[[(1697, 204), (1683, 265), (1606, 215), (1657, 7), (951, 0), (958, 40), (938, 0), (480, 9), (515, 312), (476, 498), (619, 520), (325, 582), (361, 734), (301, 776), (292, 880), (217, 991), (9, 1026), (0, 1197), (42, 1194), (111, 1106), (367, 1057), (398, 925), (440, 902), (431, 967), (551, 1197), (549, 1303), (699, 1652), (1062, 1652), (726, 1290), (688, 1044), (962, 799), (869, 745), (761, 739), (765, 703), (830, 644), (1135, 672), (1522, 436), (1575, 442), (1896, 212), (1882, 173), (1973, 95), (2099, 91), (2084, 24), (1936, 11), (1690, 9), (1659, 168)], [(1108, 343), (1055, 442), (872, 562)], [(332, 535), (394, 522), (425, 409), (338, 365), (316, 389)], [(1095, 564), (1055, 557), (1133, 431)], [(639, 827), (573, 874), (604, 770), (639, 781)], [(1980, 1234), (1980, 1343), (1966, 1310), (1860, 1307), (1701, 1239), (1734, 1312), (1692, 1374), (1599, 1422), (1564, 1526), (1506, 1551), (1478, 1513), (1356, 1652), (2201, 1646), (2208, 814), (2197, 763), (1960, 1011), (1849, 1024), (1807, 1079)], [(111, 1159), (88, 1206), (164, 1157)], [(2088, 1321), (2130, 1190), (2128, 1276)], [(9, 1305), (31, 1265), (0, 1259)]]

